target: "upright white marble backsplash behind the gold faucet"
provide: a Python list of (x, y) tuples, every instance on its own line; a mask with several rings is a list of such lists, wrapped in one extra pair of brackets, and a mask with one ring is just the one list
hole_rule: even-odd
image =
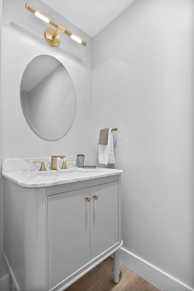
[[(73, 160), (72, 162), (66, 162), (67, 168), (77, 167), (77, 157), (65, 157), (64, 159), (57, 158), (57, 168), (62, 167), (63, 161)], [(6, 159), (2, 163), (3, 172), (25, 172), (39, 170), (41, 163), (33, 162), (45, 162), (46, 170), (51, 169), (51, 157), (49, 158), (21, 158), (21, 159)]]

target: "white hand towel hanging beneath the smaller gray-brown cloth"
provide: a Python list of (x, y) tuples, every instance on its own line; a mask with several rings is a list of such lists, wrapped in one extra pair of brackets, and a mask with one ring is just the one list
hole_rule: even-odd
[(102, 144), (99, 145), (99, 152), (98, 152), (99, 164), (108, 165), (108, 164), (115, 163), (113, 135), (112, 135), (111, 129), (112, 128), (109, 128), (107, 145), (102, 145)]

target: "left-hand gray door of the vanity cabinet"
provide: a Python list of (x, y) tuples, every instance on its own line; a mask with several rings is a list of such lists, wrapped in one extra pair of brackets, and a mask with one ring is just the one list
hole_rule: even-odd
[(48, 196), (49, 289), (90, 260), (89, 188)]

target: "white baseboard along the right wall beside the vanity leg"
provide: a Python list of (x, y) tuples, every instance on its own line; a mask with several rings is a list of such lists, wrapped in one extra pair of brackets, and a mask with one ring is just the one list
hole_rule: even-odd
[(120, 262), (161, 291), (194, 291), (193, 288), (122, 247), (120, 249)]

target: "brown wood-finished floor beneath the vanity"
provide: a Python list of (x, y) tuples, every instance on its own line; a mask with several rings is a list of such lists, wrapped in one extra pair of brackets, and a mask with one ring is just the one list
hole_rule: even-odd
[(119, 283), (115, 284), (112, 269), (112, 258), (108, 257), (65, 291), (160, 291), (122, 264)]

